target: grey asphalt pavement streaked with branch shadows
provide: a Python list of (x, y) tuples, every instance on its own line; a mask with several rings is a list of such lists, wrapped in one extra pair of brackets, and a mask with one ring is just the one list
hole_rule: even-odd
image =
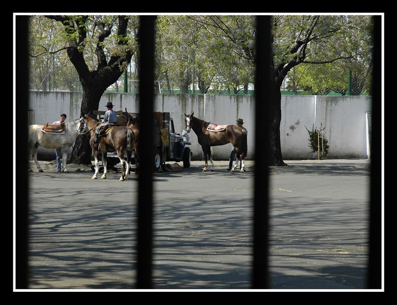
[[(286, 161), (270, 168), (271, 291), (363, 290), (370, 161)], [(41, 162), (29, 173), (29, 288), (135, 290), (137, 175), (91, 179)], [(172, 164), (172, 163), (171, 163)], [(156, 291), (250, 291), (253, 161), (154, 174)], [(182, 164), (180, 164), (182, 165)], [(33, 166), (32, 168), (35, 168)]]

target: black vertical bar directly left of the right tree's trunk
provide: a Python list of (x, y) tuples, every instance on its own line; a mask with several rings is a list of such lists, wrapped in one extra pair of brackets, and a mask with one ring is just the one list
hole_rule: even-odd
[(270, 16), (257, 17), (252, 288), (268, 288)]

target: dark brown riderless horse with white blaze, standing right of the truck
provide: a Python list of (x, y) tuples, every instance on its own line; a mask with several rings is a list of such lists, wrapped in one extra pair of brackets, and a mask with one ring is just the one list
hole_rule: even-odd
[[(208, 158), (211, 161), (211, 171), (214, 170), (214, 162), (211, 156), (211, 146), (219, 146), (228, 143), (232, 143), (236, 148), (237, 154), (240, 155), (241, 169), (240, 172), (244, 172), (244, 158), (247, 156), (247, 136), (243, 132), (241, 127), (235, 125), (228, 125), (222, 131), (208, 131), (207, 128), (210, 123), (193, 116), (192, 114), (186, 114), (186, 131), (190, 132), (193, 129), (194, 133), (197, 135), (198, 144), (201, 145), (204, 152), (205, 167), (203, 171), (207, 171), (208, 168)], [(236, 164), (233, 166), (232, 171), (235, 171)]]

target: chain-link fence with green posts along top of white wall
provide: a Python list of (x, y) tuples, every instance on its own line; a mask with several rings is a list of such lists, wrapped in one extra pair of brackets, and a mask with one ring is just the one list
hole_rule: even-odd
[[(41, 91), (81, 92), (79, 77), (70, 64), (48, 65), (43, 73), (43, 65), (32, 65), (30, 89)], [(62, 72), (61, 72), (62, 71)], [(138, 92), (139, 80), (132, 72), (124, 73), (117, 82), (107, 88), (107, 92)], [(125, 89), (126, 87), (126, 89)], [(238, 86), (237, 89), (224, 88), (206, 92), (196, 89), (191, 83), (188, 88), (181, 89), (178, 81), (173, 79), (156, 80), (155, 93), (166, 94), (253, 94), (253, 85)], [(371, 68), (360, 71), (348, 69), (335, 64), (305, 65), (292, 69), (280, 88), (283, 95), (340, 95), (356, 96), (371, 95)]]

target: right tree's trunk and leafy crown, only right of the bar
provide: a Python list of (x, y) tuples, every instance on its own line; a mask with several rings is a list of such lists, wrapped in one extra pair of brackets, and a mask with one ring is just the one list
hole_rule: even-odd
[(367, 38), (363, 29), (371, 21), (369, 16), (274, 16), (273, 56), (270, 101), (271, 164), (285, 165), (280, 145), (281, 92), (280, 87), (292, 68), (300, 64), (326, 64), (353, 58), (357, 44), (349, 39)]

